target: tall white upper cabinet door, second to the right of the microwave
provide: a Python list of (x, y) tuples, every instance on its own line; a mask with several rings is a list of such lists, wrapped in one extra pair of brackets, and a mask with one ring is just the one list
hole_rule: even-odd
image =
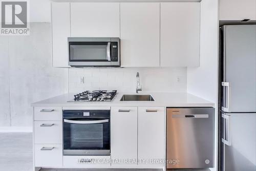
[(199, 67), (200, 3), (161, 3), (161, 67)]

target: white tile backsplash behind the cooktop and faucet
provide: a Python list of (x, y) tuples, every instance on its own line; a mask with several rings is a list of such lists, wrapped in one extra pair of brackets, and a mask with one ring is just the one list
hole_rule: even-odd
[[(186, 92), (187, 68), (70, 68), (69, 92), (117, 90), (135, 93), (136, 73), (144, 92)], [(84, 83), (80, 78), (84, 77)]]

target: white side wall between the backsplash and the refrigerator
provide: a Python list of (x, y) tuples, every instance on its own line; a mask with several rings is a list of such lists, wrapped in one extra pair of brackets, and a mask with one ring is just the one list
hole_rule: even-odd
[[(218, 0), (201, 2), (200, 67), (187, 69), (187, 92), (214, 102), (218, 100)], [(215, 117), (215, 168), (217, 168), (217, 113)]]

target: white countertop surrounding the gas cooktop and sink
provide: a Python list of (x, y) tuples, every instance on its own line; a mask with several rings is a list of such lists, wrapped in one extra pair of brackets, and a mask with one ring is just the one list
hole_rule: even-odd
[(155, 101), (120, 101), (123, 94), (117, 93), (112, 101), (93, 102), (67, 102), (74, 98), (74, 93), (63, 94), (49, 99), (32, 103), (32, 106), (63, 106), (63, 107), (86, 107), (86, 106), (164, 106), (164, 107), (214, 107), (213, 102), (188, 93), (139, 93), (151, 94)]

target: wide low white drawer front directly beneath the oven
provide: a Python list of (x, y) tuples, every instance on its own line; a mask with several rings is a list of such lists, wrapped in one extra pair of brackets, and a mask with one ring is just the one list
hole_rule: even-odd
[(110, 156), (63, 156), (65, 168), (108, 168)]

